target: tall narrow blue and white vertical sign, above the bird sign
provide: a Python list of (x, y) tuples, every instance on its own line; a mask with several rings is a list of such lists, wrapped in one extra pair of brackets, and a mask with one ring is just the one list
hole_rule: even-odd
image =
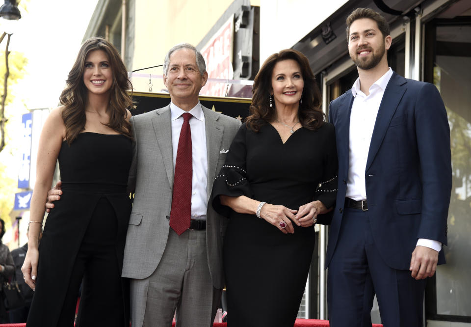
[[(31, 126), (33, 124), (33, 115), (31, 112), (23, 114), (22, 117), (22, 130), (23, 130), (23, 141), (21, 146), (21, 160), (20, 160), (20, 171), (18, 173), (18, 188), (28, 189), (29, 188), (29, 167), (31, 164)], [(16, 205), (16, 200), (15, 200)]]

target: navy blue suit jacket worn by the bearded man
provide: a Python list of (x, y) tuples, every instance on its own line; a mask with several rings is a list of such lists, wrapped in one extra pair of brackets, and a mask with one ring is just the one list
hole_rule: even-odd
[[(348, 178), (351, 90), (332, 101), (339, 157), (337, 204), (326, 266), (339, 238)], [(451, 194), (450, 130), (440, 93), (430, 83), (393, 73), (376, 117), (365, 170), (374, 242), (393, 269), (408, 270), (419, 238), (446, 245)], [(445, 263), (443, 250), (439, 264)]]

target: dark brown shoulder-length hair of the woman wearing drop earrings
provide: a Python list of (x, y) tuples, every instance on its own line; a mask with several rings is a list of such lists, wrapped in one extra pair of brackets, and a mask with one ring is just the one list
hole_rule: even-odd
[(270, 93), (273, 90), (271, 79), (275, 64), (282, 60), (293, 59), (301, 68), (304, 80), (302, 103), (299, 104), (298, 118), (300, 124), (308, 130), (316, 130), (324, 123), (325, 114), (320, 109), (321, 96), (319, 87), (315, 82), (314, 73), (309, 65), (308, 58), (299, 51), (286, 49), (277, 54), (270, 55), (255, 76), (252, 88), (252, 104), (250, 115), (246, 118), (247, 127), (258, 132), (260, 127), (275, 120), (276, 110), (270, 108)]

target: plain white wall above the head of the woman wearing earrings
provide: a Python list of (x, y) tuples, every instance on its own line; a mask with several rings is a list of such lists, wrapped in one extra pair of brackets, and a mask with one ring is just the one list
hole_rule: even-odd
[(260, 64), (291, 48), (348, 0), (260, 0)]

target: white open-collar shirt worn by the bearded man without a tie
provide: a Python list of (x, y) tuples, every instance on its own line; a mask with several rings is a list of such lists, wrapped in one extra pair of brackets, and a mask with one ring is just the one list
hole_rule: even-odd
[[(360, 78), (352, 86), (354, 100), (350, 113), (348, 180), (345, 197), (356, 201), (366, 200), (365, 170), (369, 145), (384, 90), (391, 76), (392, 69), (389, 68), (386, 74), (370, 86), (368, 95), (360, 90)], [(417, 245), (430, 247), (436, 251), (442, 249), (442, 243), (428, 239), (419, 239)]]

